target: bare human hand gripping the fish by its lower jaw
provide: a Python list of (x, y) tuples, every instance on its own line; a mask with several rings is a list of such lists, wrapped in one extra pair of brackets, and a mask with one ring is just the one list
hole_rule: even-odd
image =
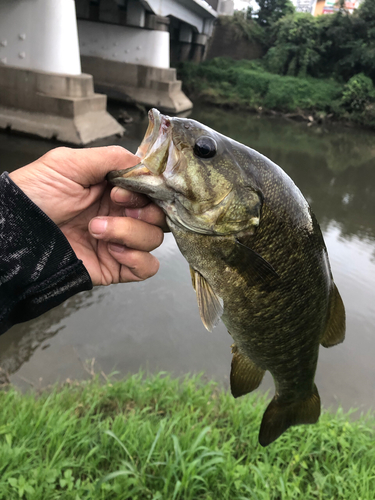
[(105, 181), (111, 170), (137, 163), (120, 146), (62, 147), (9, 175), (59, 226), (93, 285), (142, 281), (159, 269), (149, 252), (163, 241), (162, 211), (145, 196), (111, 189)]

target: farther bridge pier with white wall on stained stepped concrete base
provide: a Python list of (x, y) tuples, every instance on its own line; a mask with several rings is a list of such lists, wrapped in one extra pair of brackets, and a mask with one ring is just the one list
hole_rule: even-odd
[(77, 2), (81, 64), (95, 88), (169, 113), (191, 109), (169, 67), (169, 19), (146, 11), (138, 0), (124, 8), (113, 0), (92, 7), (87, 0)]

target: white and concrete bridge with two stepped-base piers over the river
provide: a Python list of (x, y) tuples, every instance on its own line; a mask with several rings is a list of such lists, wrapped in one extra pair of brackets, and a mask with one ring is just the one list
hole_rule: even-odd
[(96, 91), (190, 109), (170, 62), (200, 61), (216, 16), (204, 0), (0, 0), (0, 128), (75, 144), (121, 134)]

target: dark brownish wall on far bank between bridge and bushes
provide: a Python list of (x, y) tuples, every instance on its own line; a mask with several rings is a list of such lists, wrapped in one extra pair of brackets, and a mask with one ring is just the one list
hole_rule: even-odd
[(226, 56), (232, 59), (259, 59), (265, 54), (264, 48), (246, 38), (238, 38), (231, 26), (218, 24), (208, 41), (205, 59)]

